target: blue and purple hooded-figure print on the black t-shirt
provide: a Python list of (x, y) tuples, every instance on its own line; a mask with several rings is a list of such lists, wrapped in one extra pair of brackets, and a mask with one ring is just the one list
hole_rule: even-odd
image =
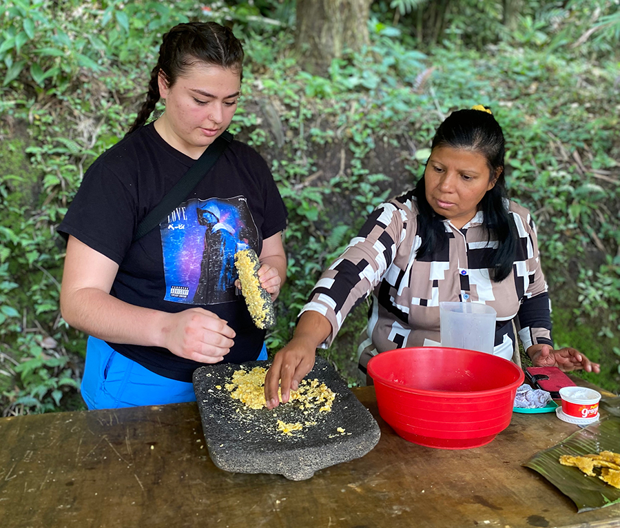
[(191, 199), (160, 224), (165, 301), (195, 305), (236, 299), (235, 253), (258, 251), (258, 230), (243, 196)]

